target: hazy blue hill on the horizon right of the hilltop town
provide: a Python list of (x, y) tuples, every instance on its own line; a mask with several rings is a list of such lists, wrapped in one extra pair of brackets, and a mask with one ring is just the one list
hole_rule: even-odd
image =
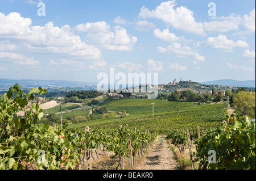
[(255, 80), (235, 81), (233, 79), (221, 79), (216, 81), (200, 82), (205, 85), (235, 86), (235, 87), (255, 87)]

